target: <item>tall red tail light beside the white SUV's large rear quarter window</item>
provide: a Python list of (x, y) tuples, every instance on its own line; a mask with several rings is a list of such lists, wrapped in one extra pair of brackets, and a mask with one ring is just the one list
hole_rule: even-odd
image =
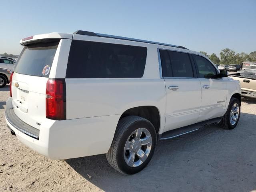
[(49, 78), (46, 84), (46, 118), (66, 119), (66, 83), (65, 79)]

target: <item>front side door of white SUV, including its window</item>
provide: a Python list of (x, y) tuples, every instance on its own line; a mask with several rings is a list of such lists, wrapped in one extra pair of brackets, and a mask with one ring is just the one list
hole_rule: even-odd
[(217, 77), (217, 70), (206, 58), (193, 54), (202, 88), (202, 102), (198, 121), (222, 116), (227, 98), (227, 80)]

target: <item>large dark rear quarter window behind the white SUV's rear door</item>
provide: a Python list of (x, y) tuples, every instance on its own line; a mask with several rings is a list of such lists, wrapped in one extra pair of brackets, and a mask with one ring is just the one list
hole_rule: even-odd
[(72, 40), (66, 78), (140, 78), (146, 47)]

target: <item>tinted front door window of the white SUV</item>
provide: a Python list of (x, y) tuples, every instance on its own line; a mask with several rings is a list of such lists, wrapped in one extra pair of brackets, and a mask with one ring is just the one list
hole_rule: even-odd
[(204, 57), (193, 55), (198, 68), (200, 78), (216, 77), (216, 68)]

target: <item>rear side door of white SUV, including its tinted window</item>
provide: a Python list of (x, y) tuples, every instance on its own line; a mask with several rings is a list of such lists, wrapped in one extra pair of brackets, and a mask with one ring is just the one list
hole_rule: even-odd
[(166, 132), (197, 122), (201, 105), (201, 85), (190, 54), (159, 51), (162, 77), (166, 86)]

